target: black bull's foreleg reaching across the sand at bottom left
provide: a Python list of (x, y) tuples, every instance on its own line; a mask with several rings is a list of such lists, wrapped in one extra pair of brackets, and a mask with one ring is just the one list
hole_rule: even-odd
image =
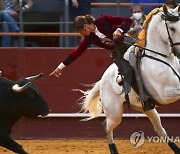
[(18, 144), (16, 141), (14, 141), (8, 133), (2, 133), (0, 134), (0, 146), (7, 148), (15, 153), (18, 154), (28, 154), (23, 147)]

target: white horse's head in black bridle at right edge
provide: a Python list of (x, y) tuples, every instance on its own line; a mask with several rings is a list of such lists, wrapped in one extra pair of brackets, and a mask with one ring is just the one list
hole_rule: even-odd
[(170, 53), (180, 58), (180, 6), (175, 9), (167, 9), (163, 6), (161, 14), (161, 27), (159, 28), (161, 38), (167, 46), (170, 47)]

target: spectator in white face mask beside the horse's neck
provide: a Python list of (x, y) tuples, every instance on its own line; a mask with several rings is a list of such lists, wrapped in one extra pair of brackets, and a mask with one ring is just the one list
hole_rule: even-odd
[(128, 35), (137, 38), (138, 34), (142, 30), (142, 25), (146, 16), (143, 13), (143, 9), (141, 5), (137, 3), (131, 7), (131, 13), (132, 13), (131, 19), (133, 20), (133, 24), (130, 30), (128, 31)]

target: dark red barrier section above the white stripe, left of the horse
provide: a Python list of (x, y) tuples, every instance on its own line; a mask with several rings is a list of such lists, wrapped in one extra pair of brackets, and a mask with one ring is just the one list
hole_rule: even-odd
[(37, 82), (46, 100), (52, 107), (52, 112), (78, 112), (76, 100), (81, 96), (71, 91), (83, 88), (82, 84), (92, 84), (98, 81), (104, 70), (110, 64), (108, 52), (102, 49), (89, 49), (73, 64), (63, 70), (62, 76), (49, 77), (63, 58), (72, 49), (1, 49), (0, 70), (9, 79), (18, 79), (44, 73)]

